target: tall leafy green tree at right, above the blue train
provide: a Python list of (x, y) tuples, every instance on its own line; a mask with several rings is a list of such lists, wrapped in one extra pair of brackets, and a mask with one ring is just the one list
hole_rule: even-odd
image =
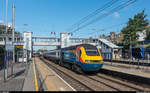
[[(142, 32), (148, 26), (148, 20), (145, 19), (147, 15), (145, 15), (144, 10), (141, 13), (138, 13), (134, 16), (134, 18), (129, 18), (127, 26), (122, 29), (123, 33), (123, 42), (129, 48), (129, 45), (135, 46), (137, 44), (137, 40), (139, 35), (137, 32)], [(130, 42), (131, 41), (131, 42)]]

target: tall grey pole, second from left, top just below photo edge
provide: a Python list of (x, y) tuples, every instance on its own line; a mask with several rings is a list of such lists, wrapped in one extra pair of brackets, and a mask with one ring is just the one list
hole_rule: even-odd
[(12, 16), (12, 44), (13, 44), (13, 62), (12, 62), (12, 69), (11, 69), (11, 74), (13, 75), (13, 65), (15, 63), (15, 5), (13, 4), (12, 6), (13, 9), (13, 16)]

